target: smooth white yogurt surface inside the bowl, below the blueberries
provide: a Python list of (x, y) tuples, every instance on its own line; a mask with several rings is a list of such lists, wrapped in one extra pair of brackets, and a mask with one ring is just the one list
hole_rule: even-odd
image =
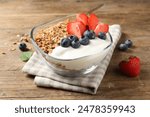
[(91, 39), (90, 43), (86, 46), (81, 45), (79, 48), (74, 49), (71, 46), (64, 48), (62, 46), (56, 47), (50, 56), (57, 59), (77, 59), (89, 55), (94, 55), (104, 50), (110, 44), (110, 40), (102, 40), (100, 38)]

